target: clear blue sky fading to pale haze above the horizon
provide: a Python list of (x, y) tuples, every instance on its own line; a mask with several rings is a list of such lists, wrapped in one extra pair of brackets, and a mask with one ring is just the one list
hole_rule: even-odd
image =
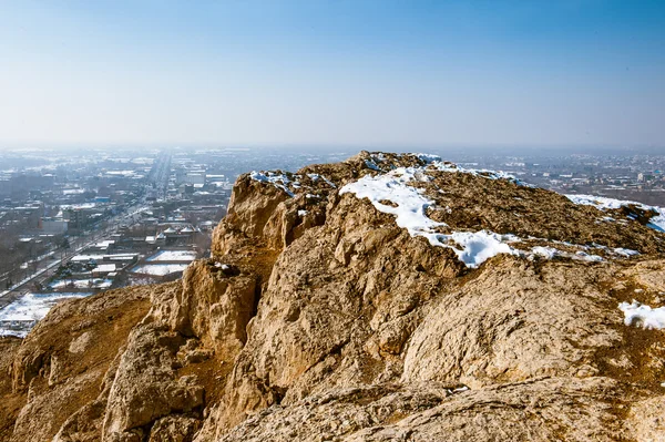
[(664, 146), (665, 1), (0, 0), (0, 148)]

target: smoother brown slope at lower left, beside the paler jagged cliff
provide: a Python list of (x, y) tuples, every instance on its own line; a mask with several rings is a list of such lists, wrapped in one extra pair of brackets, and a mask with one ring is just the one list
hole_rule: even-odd
[[(167, 289), (166, 285), (158, 290)], [(20, 403), (20, 412), (0, 415), (2, 426), (13, 426), (11, 435), (2, 440), (41, 442), (54, 438), (63, 424), (99, 395), (113, 360), (149, 308), (150, 291), (143, 287), (55, 306), (13, 356), (8, 378), (12, 390), (3, 398)], [(85, 429), (86, 425), (94, 429)], [(94, 422), (85, 419), (79, 429), (81, 434), (95, 434), (88, 440), (99, 440), (100, 428)]]

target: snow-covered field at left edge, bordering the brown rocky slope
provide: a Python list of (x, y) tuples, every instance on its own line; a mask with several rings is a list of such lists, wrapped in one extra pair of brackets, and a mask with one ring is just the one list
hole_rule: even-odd
[(25, 337), (55, 302), (68, 298), (84, 298), (92, 294), (27, 294), (0, 310), (0, 336)]

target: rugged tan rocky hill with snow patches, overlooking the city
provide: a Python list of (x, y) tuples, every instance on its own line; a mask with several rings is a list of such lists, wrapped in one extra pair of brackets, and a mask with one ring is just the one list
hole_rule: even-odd
[(665, 312), (620, 309), (665, 304), (658, 216), (427, 155), (244, 175), (182, 281), (0, 340), (0, 439), (664, 439)]

